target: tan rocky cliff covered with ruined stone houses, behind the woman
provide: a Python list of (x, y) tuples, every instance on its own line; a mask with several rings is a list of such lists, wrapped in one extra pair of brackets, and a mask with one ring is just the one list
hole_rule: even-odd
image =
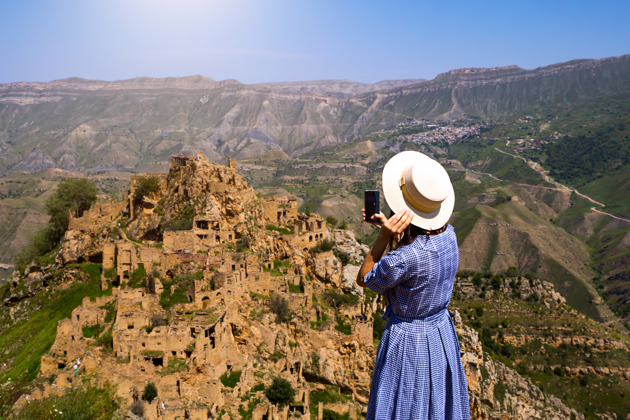
[[(90, 278), (100, 289), (58, 322), (41, 380), (15, 407), (96, 380), (145, 418), (358, 418), (383, 309), (354, 284), (366, 251), (351, 232), (298, 213), (294, 197), (257, 196), (234, 161), (173, 156), (168, 175), (134, 176), (124, 201), (72, 218), (54, 265), (14, 275), (4, 300), (14, 321), (38, 292)], [(536, 290), (561, 301), (550, 285)], [(580, 417), (453, 317), (474, 418)], [(296, 390), (293, 402), (269, 400), (274, 378)], [(150, 403), (140, 398), (149, 383)]]

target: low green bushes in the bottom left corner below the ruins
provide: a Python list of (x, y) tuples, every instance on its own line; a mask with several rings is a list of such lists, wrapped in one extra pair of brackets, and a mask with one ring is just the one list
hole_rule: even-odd
[(120, 409), (120, 398), (109, 386), (96, 388), (91, 383), (67, 388), (60, 396), (29, 400), (17, 412), (18, 419), (111, 419)]

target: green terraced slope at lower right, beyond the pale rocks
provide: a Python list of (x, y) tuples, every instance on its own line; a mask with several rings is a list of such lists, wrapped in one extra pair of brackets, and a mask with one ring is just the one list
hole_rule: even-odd
[[(512, 274), (514, 271), (513, 267), (507, 270)], [(475, 295), (462, 296), (459, 281), (456, 281), (451, 306), (459, 310), (464, 323), (477, 330), (484, 351), (529, 377), (545, 393), (585, 413), (587, 418), (604, 412), (622, 416), (630, 410), (630, 402), (619, 398), (630, 393), (630, 384), (622, 379), (621, 373), (614, 373), (617, 367), (630, 367), (630, 356), (613, 345), (604, 348), (580, 339), (621, 340), (627, 346), (630, 344), (627, 336), (584, 318), (548, 297), (525, 292), (530, 290), (526, 286), (535, 286), (537, 280), (491, 273), (460, 274), (472, 278), (473, 282), (477, 279)], [(495, 287), (499, 283), (503, 286)], [(506, 286), (507, 292), (504, 291)], [(508, 339), (515, 334), (527, 339), (515, 345)], [(604, 368), (603, 372), (610, 368), (611, 372), (568, 373), (568, 369), (580, 367)], [(498, 383), (494, 389), (497, 401), (501, 401), (507, 391), (505, 384)]]

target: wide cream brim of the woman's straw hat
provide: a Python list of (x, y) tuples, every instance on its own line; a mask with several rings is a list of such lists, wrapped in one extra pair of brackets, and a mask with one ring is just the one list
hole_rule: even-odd
[(426, 160), (427, 163), (432, 159), (420, 152), (406, 151), (401, 152), (391, 158), (383, 168), (383, 193), (385, 201), (394, 213), (403, 210), (411, 210), (414, 213), (411, 224), (426, 230), (435, 230), (444, 226), (453, 214), (455, 207), (455, 191), (453, 185), (449, 183), (450, 192), (440, 206), (431, 213), (424, 213), (412, 207), (405, 199), (399, 186), (400, 177), (409, 165), (418, 160)]

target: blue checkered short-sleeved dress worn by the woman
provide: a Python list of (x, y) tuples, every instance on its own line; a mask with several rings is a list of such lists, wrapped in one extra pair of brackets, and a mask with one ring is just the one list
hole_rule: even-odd
[(446, 310), (459, 263), (452, 226), (418, 236), (365, 275), (387, 298), (367, 419), (470, 419), (457, 333)]

